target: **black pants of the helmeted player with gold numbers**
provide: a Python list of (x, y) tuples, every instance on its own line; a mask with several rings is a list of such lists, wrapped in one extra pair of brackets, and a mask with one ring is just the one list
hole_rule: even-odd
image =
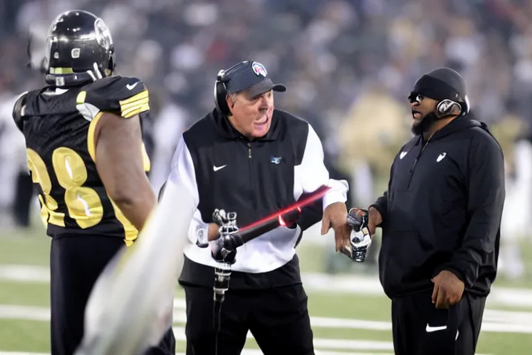
[[(85, 306), (92, 287), (121, 239), (100, 236), (64, 236), (51, 246), (51, 354), (72, 355), (83, 338)], [(134, 311), (134, 310), (132, 310)], [(175, 354), (170, 328), (158, 347), (146, 354)]]

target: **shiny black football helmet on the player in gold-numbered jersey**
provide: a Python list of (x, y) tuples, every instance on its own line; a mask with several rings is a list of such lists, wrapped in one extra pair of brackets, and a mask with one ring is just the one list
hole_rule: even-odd
[(46, 83), (78, 86), (110, 76), (114, 45), (109, 28), (83, 10), (63, 12), (52, 22), (46, 38)]

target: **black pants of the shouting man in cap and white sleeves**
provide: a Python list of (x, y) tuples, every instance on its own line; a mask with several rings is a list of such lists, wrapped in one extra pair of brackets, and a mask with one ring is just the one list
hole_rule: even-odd
[[(184, 286), (186, 355), (214, 355), (213, 289)], [(231, 291), (222, 303), (218, 355), (238, 355), (248, 330), (265, 355), (314, 354), (308, 297), (301, 284)]]

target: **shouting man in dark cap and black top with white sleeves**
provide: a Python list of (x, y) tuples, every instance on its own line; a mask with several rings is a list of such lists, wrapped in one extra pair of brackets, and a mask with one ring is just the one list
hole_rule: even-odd
[(258, 62), (220, 71), (216, 108), (184, 132), (177, 146), (166, 184), (184, 184), (197, 198), (179, 277), (186, 291), (186, 354), (215, 354), (217, 261), (206, 248), (219, 236), (213, 211), (236, 212), (238, 226), (245, 227), (326, 185), (332, 189), (318, 208), (303, 209), (294, 225), (277, 227), (237, 249), (218, 334), (218, 355), (240, 354), (248, 330), (266, 355), (281, 350), (314, 354), (295, 248), (303, 230), (319, 220), (322, 234), (335, 230), (337, 250), (348, 243), (348, 184), (329, 179), (321, 141), (310, 124), (274, 109), (273, 92), (285, 90)]

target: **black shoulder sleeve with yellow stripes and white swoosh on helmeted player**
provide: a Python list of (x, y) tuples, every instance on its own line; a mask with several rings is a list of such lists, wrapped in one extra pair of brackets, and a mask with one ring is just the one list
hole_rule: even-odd
[[(148, 89), (142, 80), (110, 76), (82, 88), (76, 100), (91, 112), (112, 112), (125, 119), (150, 110)], [(96, 108), (96, 110), (95, 110)]]

